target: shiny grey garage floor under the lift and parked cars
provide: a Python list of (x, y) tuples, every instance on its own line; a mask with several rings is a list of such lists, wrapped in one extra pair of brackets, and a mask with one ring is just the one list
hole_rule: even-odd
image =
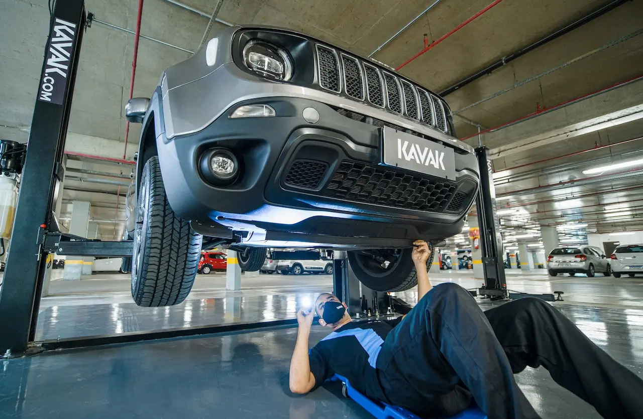
[[(467, 288), (480, 285), (467, 278), (467, 272), (446, 272), (433, 278), (434, 283), (451, 280)], [(556, 307), (617, 361), (643, 377), (643, 278), (552, 279), (538, 272), (521, 276), (512, 272), (508, 282), (516, 290), (564, 290), (568, 301)], [(313, 298), (331, 285), (331, 278), (321, 276), (289, 277), (285, 285), (271, 285), (269, 280), (248, 280), (239, 292), (208, 284), (215, 289), (198, 291), (172, 308), (108, 302), (124, 298), (120, 294), (107, 295), (99, 304), (81, 294), (48, 298), (37, 336), (50, 339), (289, 318), (294, 316), (297, 301)], [(417, 298), (413, 290), (403, 294), (411, 302)], [(598, 302), (590, 304), (592, 299)], [(481, 302), (483, 309), (489, 304)], [(311, 344), (325, 334), (326, 330), (316, 328)], [(289, 393), (287, 374), (295, 336), (296, 329), (282, 328), (0, 361), (0, 417), (370, 417), (342, 398), (332, 384), (305, 397)], [(518, 381), (543, 418), (599, 417), (592, 407), (559, 388), (546, 370), (528, 369), (518, 375)]]

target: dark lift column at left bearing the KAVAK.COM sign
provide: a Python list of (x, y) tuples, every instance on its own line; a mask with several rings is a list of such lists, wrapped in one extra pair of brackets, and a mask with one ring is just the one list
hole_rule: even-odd
[[(55, 3), (0, 289), (0, 353), (24, 352), (33, 340), (47, 260), (42, 239), (51, 221), (55, 183), (63, 176), (60, 162), (85, 17), (83, 0)], [(59, 58), (61, 50), (64, 58)], [(55, 65), (49, 65), (50, 59)]]

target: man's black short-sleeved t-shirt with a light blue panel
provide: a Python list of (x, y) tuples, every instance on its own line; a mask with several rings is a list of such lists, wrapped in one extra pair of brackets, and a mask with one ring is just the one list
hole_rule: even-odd
[(400, 316), (387, 321), (352, 321), (321, 339), (309, 352), (311, 372), (315, 377), (313, 389), (338, 374), (363, 395), (386, 400), (377, 378), (377, 355), (386, 335), (401, 320)]

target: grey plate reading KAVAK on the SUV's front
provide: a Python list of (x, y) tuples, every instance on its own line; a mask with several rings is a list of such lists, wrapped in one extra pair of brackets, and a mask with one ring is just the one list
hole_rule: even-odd
[(455, 151), (435, 141), (384, 127), (382, 164), (455, 181)]

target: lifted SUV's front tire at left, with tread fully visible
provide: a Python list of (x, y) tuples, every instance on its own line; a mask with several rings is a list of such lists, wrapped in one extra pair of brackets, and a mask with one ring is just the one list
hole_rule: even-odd
[(141, 307), (181, 303), (190, 293), (203, 236), (178, 218), (165, 195), (157, 156), (141, 175), (132, 254), (132, 298)]

